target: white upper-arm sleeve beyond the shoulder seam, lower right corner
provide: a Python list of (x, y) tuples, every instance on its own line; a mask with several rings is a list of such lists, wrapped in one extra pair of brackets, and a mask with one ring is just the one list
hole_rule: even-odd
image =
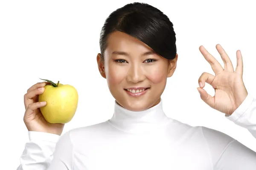
[(212, 170), (256, 170), (256, 153), (218, 130), (202, 127)]

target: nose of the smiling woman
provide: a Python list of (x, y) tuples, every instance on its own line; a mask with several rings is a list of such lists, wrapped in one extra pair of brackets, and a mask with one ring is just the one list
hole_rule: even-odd
[(141, 65), (131, 65), (126, 76), (128, 82), (138, 83), (145, 80)]

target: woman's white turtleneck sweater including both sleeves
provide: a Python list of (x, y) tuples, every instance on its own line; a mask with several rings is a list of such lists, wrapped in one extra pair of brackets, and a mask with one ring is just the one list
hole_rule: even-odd
[[(226, 118), (256, 138), (250, 94)], [(217, 130), (167, 117), (162, 100), (140, 112), (115, 102), (106, 122), (61, 136), (29, 131), (17, 170), (256, 170), (256, 153)]]

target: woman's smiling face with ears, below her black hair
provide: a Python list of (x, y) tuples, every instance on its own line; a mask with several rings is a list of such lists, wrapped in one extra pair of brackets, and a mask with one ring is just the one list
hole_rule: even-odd
[(120, 31), (108, 37), (104, 62), (97, 55), (99, 71), (107, 79), (108, 88), (122, 107), (143, 111), (160, 102), (176, 68), (175, 59), (168, 60), (155, 54), (148, 45)]

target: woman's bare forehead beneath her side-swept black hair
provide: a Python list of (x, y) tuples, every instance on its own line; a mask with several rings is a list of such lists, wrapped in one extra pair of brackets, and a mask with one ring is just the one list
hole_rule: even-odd
[(112, 53), (113, 51), (125, 51), (138, 54), (152, 51), (144, 42), (120, 31), (115, 31), (110, 34), (107, 43), (106, 52), (108, 53)]

